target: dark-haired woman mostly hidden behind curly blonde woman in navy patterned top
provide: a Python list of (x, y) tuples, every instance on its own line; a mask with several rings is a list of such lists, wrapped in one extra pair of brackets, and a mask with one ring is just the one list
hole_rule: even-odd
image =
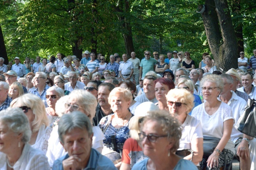
[(141, 103), (139, 103), (138, 101), (135, 101), (135, 100), (134, 100), (134, 98), (135, 98), (135, 97), (134, 97), (134, 92), (136, 92), (136, 86), (135, 86), (135, 84), (134, 84), (132, 81), (130, 81), (130, 80), (126, 80), (126, 81), (121, 81), (121, 82), (119, 83), (119, 87), (124, 88), (124, 89), (128, 89), (128, 90), (131, 91), (131, 93), (132, 93), (132, 102), (131, 102), (131, 104), (130, 104), (129, 109), (130, 109), (131, 113), (134, 114), (136, 107), (137, 107), (139, 104), (141, 104)]

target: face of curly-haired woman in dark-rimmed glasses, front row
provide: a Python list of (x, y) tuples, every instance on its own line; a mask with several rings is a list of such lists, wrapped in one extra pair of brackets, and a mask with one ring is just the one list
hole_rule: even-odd
[[(141, 134), (154, 135), (154, 136), (165, 136), (161, 125), (156, 120), (148, 120), (144, 123)], [(167, 137), (158, 137), (155, 142), (151, 142), (147, 137), (144, 137), (141, 141), (143, 152), (148, 157), (155, 156), (167, 156), (168, 150), (173, 146)]]

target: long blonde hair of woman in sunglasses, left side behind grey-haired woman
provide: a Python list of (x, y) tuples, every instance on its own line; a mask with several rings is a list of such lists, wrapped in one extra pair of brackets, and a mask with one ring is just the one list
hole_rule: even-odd
[[(13, 101), (15, 102), (15, 101)], [(35, 115), (35, 119), (32, 121), (32, 132), (37, 132), (42, 125), (49, 125), (49, 120), (46, 116), (45, 104), (41, 98), (35, 96), (34, 94), (27, 93), (19, 98), (17, 98), (16, 102), (12, 105), (12, 107), (20, 107), (27, 106), (30, 107)]]

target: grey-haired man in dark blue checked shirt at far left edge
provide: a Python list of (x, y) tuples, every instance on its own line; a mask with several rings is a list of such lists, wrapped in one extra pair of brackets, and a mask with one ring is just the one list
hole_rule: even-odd
[(1, 81), (0, 82), (0, 111), (7, 109), (10, 106), (11, 98), (8, 96), (9, 85), (8, 83)]

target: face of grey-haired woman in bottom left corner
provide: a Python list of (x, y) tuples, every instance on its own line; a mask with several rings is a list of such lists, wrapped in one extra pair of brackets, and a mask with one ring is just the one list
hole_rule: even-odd
[(14, 133), (8, 125), (0, 121), (0, 152), (7, 154), (12, 148), (18, 146), (21, 135)]

